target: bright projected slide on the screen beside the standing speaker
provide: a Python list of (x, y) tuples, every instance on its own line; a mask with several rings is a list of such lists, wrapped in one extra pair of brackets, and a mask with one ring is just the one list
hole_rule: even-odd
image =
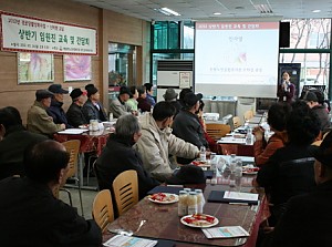
[(195, 44), (196, 88), (215, 94), (227, 90), (221, 95), (276, 96), (278, 22), (197, 22)]

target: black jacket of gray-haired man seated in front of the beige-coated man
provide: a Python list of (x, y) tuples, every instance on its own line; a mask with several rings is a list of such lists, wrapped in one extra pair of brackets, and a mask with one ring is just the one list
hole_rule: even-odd
[(114, 133), (110, 135), (106, 146), (96, 159), (100, 189), (112, 189), (115, 177), (128, 169), (137, 172), (139, 198), (159, 184), (144, 169), (141, 155), (132, 145), (131, 141), (122, 140)]

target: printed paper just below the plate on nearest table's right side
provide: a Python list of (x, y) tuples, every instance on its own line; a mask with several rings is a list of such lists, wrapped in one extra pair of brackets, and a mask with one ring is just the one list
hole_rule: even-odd
[(241, 226), (225, 226), (201, 229), (207, 238), (248, 237), (249, 234)]

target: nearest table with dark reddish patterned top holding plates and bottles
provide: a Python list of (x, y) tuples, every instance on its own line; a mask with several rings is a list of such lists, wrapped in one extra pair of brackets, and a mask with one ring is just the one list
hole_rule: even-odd
[[(228, 189), (225, 185), (207, 185), (205, 197), (211, 191)], [(247, 188), (248, 191), (249, 188)], [(257, 206), (229, 205), (220, 203), (206, 203), (204, 213), (214, 215), (219, 219), (217, 226), (242, 226), (250, 237), (229, 239), (207, 239), (199, 228), (190, 228), (180, 223), (177, 215), (177, 203), (159, 205), (149, 202), (146, 197), (137, 205), (126, 212), (123, 216), (110, 224), (108, 229), (125, 229), (134, 231), (135, 236), (157, 239), (168, 239), (176, 246), (250, 246), (255, 247), (259, 224), (266, 217), (266, 197), (261, 195), (262, 202)], [(137, 231), (141, 220), (146, 220)], [(106, 233), (104, 241), (113, 234)]]

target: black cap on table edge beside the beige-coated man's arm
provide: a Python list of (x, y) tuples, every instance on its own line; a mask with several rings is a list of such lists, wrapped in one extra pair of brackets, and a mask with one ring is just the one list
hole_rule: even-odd
[(205, 184), (206, 177), (201, 167), (184, 165), (167, 179), (167, 184)]

